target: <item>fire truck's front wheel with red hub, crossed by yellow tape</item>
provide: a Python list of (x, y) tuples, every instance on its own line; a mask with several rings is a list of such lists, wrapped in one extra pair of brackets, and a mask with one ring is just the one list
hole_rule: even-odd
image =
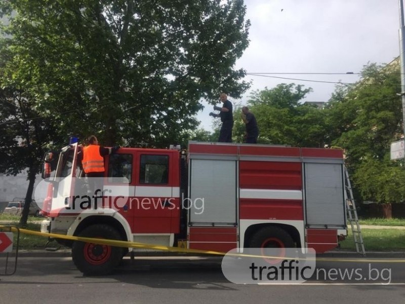
[[(78, 234), (78, 237), (121, 240), (119, 233), (105, 224), (88, 226)], [(72, 245), (72, 259), (77, 269), (85, 275), (108, 275), (122, 259), (123, 251), (122, 247), (75, 241)]]

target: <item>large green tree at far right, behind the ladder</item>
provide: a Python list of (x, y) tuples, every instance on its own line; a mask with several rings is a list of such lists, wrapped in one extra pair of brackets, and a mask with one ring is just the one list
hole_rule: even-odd
[(345, 149), (345, 163), (362, 200), (403, 202), (403, 161), (391, 161), (389, 155), (390, 143), (402, 135), (399, 90), (399, 64), (369, 63), (362, 79), (355, 86), (338, 87), (329, 103), (331, 143)]

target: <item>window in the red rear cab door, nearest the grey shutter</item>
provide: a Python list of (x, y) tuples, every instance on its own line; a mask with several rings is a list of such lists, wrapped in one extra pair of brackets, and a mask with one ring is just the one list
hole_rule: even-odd
[(141, 184), (167, 184), (168, 181), (168, 155), (141, 155), (139, 167), (139, 182)]

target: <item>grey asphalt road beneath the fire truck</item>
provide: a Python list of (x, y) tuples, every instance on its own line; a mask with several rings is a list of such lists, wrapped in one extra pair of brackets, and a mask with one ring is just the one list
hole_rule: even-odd
[[(22, 255), (17, 272), (0, 277), (0, 303), (381, 304), (389, 301), (395, 304), (403, 303), (405, 297), (405, 259), (402, 262), (320, 261), (316, 263), (316, 268), (321, 270), (318, 278), (315, 273), (310, 280), (295, 285), (231, 283), (222, 273), (221, 260), (221, 257), (136, 257), (134, 261), (125, 259), (113, 275), (85, 277), (76, 270), (70, 257)], [(0, 256), (3, 272), (4, 262), (4, 256)], [(353, 270), (354, 275), (350, 280), (337, 279), (339, 270), (343, 273)], [(322, 277), (324, 273), (330, 275), (326, 280)], [(367, 280), (360, 280), (356, 274)], [(390, 284), (386, 284), (388, 279)]]

